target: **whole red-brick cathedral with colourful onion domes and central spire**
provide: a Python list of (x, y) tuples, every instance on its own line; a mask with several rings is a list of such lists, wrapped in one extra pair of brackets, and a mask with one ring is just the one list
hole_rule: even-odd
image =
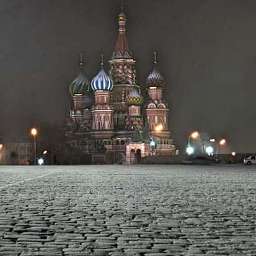
[(138, 163), (140, 157), (175, 152), (156, 52), (154, 68), (143, 86), (147, 96), (143, 97), (127, 42), (126, 20), (122, 11), (108, 74), (102, 57), (99, 73), (90, 81), (83, 74), (81, 59), (81, 70), (69, 86), (72, 107), (65, 138), (71, 148), (81, 151), (83, 163)]

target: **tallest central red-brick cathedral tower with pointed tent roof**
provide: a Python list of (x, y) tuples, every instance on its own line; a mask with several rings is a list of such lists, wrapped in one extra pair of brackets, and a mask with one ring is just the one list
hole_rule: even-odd
[(140, 86), (136, 83), (136, 61), (132, 58), (126, 35), (126, 20), (127, 17), (122, 8), (118, 15), (118, 39), (112, 58), (109, 60), (109, 77), (114, 83), (111, 92), (111, 104), (115, 110), (115, 127), (117, 129), (124, 129), (124, 114), (128, 113), (128, 105), (125, 102), (127, 95), (134, 88), (137, 88), (140, 92)]

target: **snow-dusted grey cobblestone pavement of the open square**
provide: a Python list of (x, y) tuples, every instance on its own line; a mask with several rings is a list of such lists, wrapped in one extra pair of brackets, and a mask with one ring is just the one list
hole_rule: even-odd
[(254, 166), (0, 166), (0, 255), (256, 255)]

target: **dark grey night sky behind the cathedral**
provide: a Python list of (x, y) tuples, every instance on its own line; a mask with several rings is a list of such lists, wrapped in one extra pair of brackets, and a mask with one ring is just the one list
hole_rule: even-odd
[[(92, 79), (100, 52), (108, 60), (113, 52), (120, 3), (1, 0), (0, 137), (25, 137), (33, 124), (65, 120), (79, 52)], [(255, 9), (254, 0), (124, 1), (139, 84), (157, 51), (181, 151), (195, 129), (227, 138), (237, 152), (256, 151)]]

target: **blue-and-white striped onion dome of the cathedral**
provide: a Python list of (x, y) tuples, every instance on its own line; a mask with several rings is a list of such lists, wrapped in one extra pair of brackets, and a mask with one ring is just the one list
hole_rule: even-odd
[(92, 79), (92, 90), (103, 90), (103, 91), (111, 91), (113, 88), (113, 81), (112, 79), (106, 74), (103, 67), (101, 67), (100, 72), (97, 76), (93, 77)]

